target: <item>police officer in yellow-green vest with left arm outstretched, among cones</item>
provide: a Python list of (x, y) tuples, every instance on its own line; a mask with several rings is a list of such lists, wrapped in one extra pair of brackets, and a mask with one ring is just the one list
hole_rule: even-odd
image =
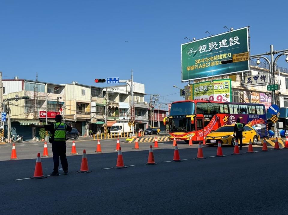
[(52, 139), (50, 139), (49, 142), (51, 141), (52, 143), (54, 169), (53, 172), (50, 173), (50, 176), (59, 176), (59, 157), (61, 160), (62, 169), (64, 171), (63, 174), (68, 174), (68, 162), (66, 158), (66, 131), (70, 132), (72, 130), (72, 127), (65, 123), (62, 123), (61, 120), (62, 116), (56, 115), (56, 123), (52, 123), (49, 125), (30, 125), (31, 127), (44, 128), (46, 131), (50, 131), (50, 133), (52, 134)]

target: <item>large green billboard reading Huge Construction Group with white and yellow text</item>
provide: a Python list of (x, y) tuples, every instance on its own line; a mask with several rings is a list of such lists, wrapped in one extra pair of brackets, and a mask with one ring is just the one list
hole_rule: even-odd
[(221, 64), (249, 51), (248, 27), (181, 45), (182, 81), (249, 70), (249, 61)]

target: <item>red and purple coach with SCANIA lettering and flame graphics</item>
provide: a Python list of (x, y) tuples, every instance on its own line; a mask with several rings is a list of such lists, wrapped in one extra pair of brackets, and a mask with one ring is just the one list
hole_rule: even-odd
[(203, 141), (204, 136), (217, 128), (235, 124), (237, 118), (253, 127), (260, 137), (267, 136), (266, 112), (262, 104), (190, 100), (172, 103), (169, 138), (188, 142), (191, 137), (193, 142)]

